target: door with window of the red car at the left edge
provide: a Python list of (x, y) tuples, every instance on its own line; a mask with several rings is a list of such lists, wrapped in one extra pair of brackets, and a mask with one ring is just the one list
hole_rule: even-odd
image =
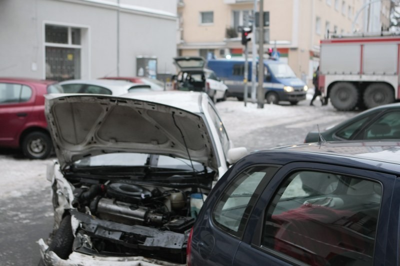
[(17, 145), (19, 133), (31, 119), (35, 91), (19, 83), (0, 83), (0, 144)]

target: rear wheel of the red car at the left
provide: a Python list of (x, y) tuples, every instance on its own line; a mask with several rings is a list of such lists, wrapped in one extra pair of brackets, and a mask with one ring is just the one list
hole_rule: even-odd
[(30, 159), (45, 159), (53, 149), (50, 136), (40, 131), (27, 134), (21, 145), (23, 155)]

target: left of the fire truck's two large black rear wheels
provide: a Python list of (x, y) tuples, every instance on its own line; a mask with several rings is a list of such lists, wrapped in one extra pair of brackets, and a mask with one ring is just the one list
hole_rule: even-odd
[(330, 102), (339, 111), (350, 111), (358, 102), (357, 88), (349, 82), (338, 82), (333, 85), (329, 93)]

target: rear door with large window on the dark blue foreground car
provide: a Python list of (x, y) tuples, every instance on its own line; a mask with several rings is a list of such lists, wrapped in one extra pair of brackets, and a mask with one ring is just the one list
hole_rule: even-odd
[(398, 207), (388, 219), (395, 180), (333, 164), (285, 165), (256, 203), (232, 265), (396, 265), (398, 234), (387, 233), (398, 232)]

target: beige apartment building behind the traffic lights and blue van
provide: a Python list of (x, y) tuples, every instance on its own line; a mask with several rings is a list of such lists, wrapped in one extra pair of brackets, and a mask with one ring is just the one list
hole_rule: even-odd
[[(286, 61), (298, 77), (311, 84), (312, 72), (319, 62), (319, 40), (332, 33), (363, 31), (368, 18), (364, 11), (369, 7), (367, 1), (263, 0), (263, 9), (269, 12), (269, 27), (264, 28), (269, 39), (264, 43), (264, 52), (268, 48), (276, 49), (280, 60)], [(258, 11), (259, 0), (255, 5)], [(374, 6), (374, 12), (378, 12), (369, 16), (369, 23), (373, 20), (375, 24), (388, 27), (389, 9), (382, 6), (387, 8), (387, 3)], [(202, 0), (201, 3), (198, 0), (178, 0), (178, 54), (205, 58), (243, 56), (237, 26), (250, 25), (253, 10), (254, 0)], [(387, 17), (387, 20), (381, 22), (382, 17)], [(248, 45), (251, 53), (252, 42)]]

